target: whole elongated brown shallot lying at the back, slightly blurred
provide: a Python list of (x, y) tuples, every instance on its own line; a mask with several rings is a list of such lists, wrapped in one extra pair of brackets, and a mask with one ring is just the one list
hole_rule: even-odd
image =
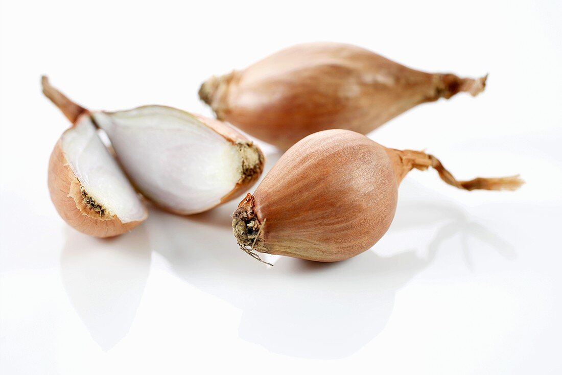
[(486, 77), (410, 69), (366, 49), (308, 43), (212, 77), (200, 97), (220, 120), (284, 150), (325, 129), (366, 134), (424, 102), (484, 89)]

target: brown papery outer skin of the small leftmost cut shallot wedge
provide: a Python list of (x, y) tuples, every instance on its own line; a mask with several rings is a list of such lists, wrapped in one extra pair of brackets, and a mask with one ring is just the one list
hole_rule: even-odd
[(101, 215), (85, 203), (82, 186), (66, 161), (61, 141), (57, 142), (49, 159), (48, 186), (51, 200), (61, 218), (72, 228), (89, 236), (114, 237), (142, 223), (122, 223), (117, 215)]

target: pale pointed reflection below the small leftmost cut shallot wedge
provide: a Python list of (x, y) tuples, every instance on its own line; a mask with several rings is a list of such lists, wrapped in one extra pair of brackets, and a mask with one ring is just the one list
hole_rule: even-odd
[(66, 229), (62, 283), (76, 313), (103, 350), (110, 350), (129, 332), (150, 262), (144, 225), (107, 240)]

